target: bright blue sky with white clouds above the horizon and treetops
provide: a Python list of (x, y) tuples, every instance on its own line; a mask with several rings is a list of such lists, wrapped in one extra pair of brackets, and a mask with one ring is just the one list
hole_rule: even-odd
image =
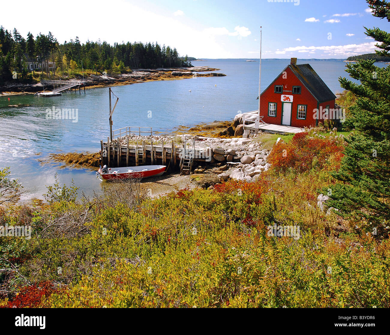
[[(365, 36), (363, 26), (389, 27), (387, 20), (371, 15), (365, 0), (87, 0), (47, 5), (48, 11), (10, 14), (14, 3), (3, 2), (0, 24), (16, 27), (24, 36), (50, 30), (61, 43), (75, 36), (82, 42), (158, 41), (198, 58), (259, 58), (262, 26), (263, 58), (323, 59), (374, 52), (375, 41)], [(18, 7), (34, 5), (18, 1)]]

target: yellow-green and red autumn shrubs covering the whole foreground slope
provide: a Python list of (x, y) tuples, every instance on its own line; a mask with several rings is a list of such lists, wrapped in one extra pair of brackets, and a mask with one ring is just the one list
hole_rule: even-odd
[[(313, 132), (275, 146), (269, 158), (278, 162), (283, 145), (290, 163), (253, 183), (156, 199), (110, 193), (7, 214), (37, 233), (0, 240), (14, 279), (23, 276), (0, 306), (389, 307), (390, 242), (358, 235), (317, 207), (343, 147)], [(298, 226), (300, 238), (270, 236), (274, 225)]]

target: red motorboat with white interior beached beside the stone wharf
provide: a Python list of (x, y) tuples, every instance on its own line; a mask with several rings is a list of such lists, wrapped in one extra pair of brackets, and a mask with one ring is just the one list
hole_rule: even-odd
[(165, 165), (144, 165), (128, 167), (107, 167), (99, 168), (96, 175), (101, 175), (105, 180), (148, 178), (161, 176), (165, 172)]

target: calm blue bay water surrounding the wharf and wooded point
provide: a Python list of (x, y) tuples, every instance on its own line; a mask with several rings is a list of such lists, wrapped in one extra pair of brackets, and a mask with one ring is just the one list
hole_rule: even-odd
[[(303, 63), (309, 63), (334, 93), (342, 91), (338, 77), (347, 77), (346, 63), (298, 60), (298, 64)], [(289, 60), (263, 60), (261, 89), (287, 64)], [(210, 59), (193, 65), (220, 68), (218, 72), (227, 76), (114, 86), (119, 102), (113, 115), (113, 129), (137, 126), (167, 132), (181, 125), (232, 119), (239, 111), (257, 109), (258, 61)], [(11, 106), (20, 104), (25, 106)], [(78, 109), (78, 122), (47, 120), (46, 109), (53, 106)], [(86, 194), (94, 190), (101, 192), (101, 182), (94, 171), (59, 168), (41, 164), (39, 160), (50, 153), (99, 151), (100, 140), (109, 135), (108, 109), (106, 87), (53, 98), (32, 94), (0, 97), (0, 168), (11, 167), (12, 178), (18, 178), (29, 190), (27, 198), (42, 198), (46, 185), (53, 184), (55, 173), (61, 184), (69, 185), (73, 179)], [(149, 110), (151, 118), (148, 118)]]

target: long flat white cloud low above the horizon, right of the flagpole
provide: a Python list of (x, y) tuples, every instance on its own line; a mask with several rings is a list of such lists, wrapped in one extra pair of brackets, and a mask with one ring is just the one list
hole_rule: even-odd
[(376, 42), (367, 42), (362, 44), (347, 44), (347, 45), (327, 45), (327, 46), (295, 46), (295, 47), (285, 48), (282, 51), (275, 52), (275, 53), (315, 52), (321, 50), (325, 53), (324, 56), (348, 57), (356, 54), (373, 53), (376, 50), (375, 44)]

